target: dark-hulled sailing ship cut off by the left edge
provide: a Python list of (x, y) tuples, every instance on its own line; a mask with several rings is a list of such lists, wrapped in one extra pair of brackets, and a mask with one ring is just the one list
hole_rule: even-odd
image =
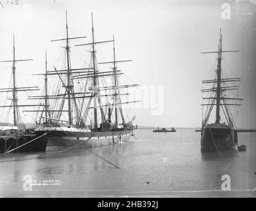
[[(44, 105), (34, 104), (19, 104), (18, 92), (30, 92), (39, 90), (38, 86), (17, 87), (17, 70), (16, 63), (21, 61), (31, 61), (33, 59), (16, 59), (15, 57), (15, 35), (13, 34), (13, 59), (7, 61), (0, 61), (1, 63), (13, 63), (11, 86), (9, 88), (0, 88), (0, 92), (11, 93), (11, 104), (1, 105), (1, 109), (9, 108), (4, 116), (11, 117), (13, 115), (13, 123), (4, 122), (1, 118), (0, 123), (0, 152), (40, 152), (46, 150), (47, 141), (39, 140), (36, 134), (22, 122), (20, 107), (40, 107)], [(2, 102), (5, 102), (3, 100)], [(11, 112), (10, 108), (13, 110)]]

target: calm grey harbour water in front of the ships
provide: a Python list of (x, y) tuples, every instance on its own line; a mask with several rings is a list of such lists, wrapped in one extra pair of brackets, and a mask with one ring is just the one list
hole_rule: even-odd
[[(239, 133), (246, 152), (202, 154), (200, 133), (137, 130), (130, 142), (89, 150), (0, 154), (2, 197), (256, 196), (256, 133)], [(221, 191), (222, 175), (232, 191)], [(33, 179), (26, 190), (25, 177)]]

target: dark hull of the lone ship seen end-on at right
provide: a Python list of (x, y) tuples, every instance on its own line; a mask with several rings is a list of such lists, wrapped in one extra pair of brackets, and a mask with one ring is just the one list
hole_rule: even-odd
[(235, 146), (235, 131), (226, 125), (204, 125), (201, 131), (201, 151), (218, 152)]

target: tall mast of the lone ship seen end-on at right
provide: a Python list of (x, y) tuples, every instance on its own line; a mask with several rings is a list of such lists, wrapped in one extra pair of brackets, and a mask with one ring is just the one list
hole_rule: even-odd
[(220, 124), (220, 82), (222, 79), (222, 30), (220, 29), (220, 43), (218, 46), (218, 65), (217, 65), (217, 90), (216, 90), (216, 124)]

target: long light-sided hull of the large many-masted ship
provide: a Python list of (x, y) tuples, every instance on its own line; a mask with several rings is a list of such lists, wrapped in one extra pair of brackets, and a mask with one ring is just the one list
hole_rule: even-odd
[[(48, 131), (35, 131), (36, 135), (43, 135)], [(87, 148), (128, 142), (132, 130), (107, 131), (107, 132), (75, 132), (75, 131), (51, 131), (40, 140), (48, 142), (47, 146), (77, 146)]]

